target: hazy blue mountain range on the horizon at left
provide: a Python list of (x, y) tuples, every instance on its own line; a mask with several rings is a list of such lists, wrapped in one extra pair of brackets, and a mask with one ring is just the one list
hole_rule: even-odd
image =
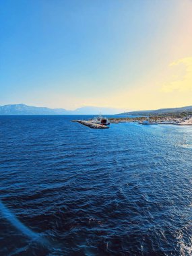
[(25, 104), (9, 104), (0, 106), (0, 115), (113, 115), (120, 112), (117, 108), (105, 108), (97, 106), (83, 106), (75, 110), (64, 108), (46, 108), (38, 106), (28, 106)]

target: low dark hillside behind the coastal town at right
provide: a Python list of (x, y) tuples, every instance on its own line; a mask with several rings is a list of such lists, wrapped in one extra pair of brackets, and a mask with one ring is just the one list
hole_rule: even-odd
[(139, 111), (121, 113), (119, 115), (161, 115), (161, 114), (182, 113), (182, 112), (192, 112), (192, 106), (183, 106), (181, 108), (160, 108), (156, 110), (139, 110)]

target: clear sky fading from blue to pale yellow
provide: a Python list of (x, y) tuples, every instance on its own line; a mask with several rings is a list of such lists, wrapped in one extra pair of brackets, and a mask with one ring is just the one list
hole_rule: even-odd
[(192, 0), (0, 0), (0, 105), (192, 105)]

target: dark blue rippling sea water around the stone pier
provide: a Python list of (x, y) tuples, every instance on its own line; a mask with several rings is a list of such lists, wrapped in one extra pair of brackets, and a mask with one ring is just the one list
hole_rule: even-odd
[(0, 117), (0, 255), (191, 255), (192, 127), (75, 118)]

